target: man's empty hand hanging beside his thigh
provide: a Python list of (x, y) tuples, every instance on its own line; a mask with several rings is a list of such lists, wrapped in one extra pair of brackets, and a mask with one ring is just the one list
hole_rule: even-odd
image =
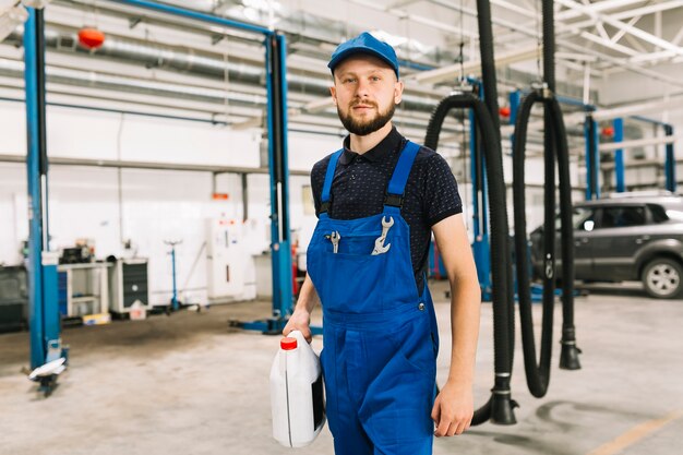
[(436, 396), (432, 409), (432, 420), (436, 426), (434, 435), (441, 438), (463, 434), (472, 421), (474, 403), (471, 387), (447, 382)]

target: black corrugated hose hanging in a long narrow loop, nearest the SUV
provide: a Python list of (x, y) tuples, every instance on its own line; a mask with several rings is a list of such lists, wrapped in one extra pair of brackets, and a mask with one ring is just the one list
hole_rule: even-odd
[[(515, 121), (513, 143), (513, 203), (515, 220), (515, 256), (522, 343), (527, 385), (531, 394), (542, 397), (550, 383), (552, 330), (555, 289), (555, 158), (560, 177), (560, 223), (562, 249), (562, 352), (560, 368), (580, 369), (574, 327), (574, 227), (572, 225), (572, 188), (566, 131), (560, 104), (554, 96), (554, 22), (553, 1), (543, 0), (543, 75), (544, 84), (525, 97)], [(529, 258), (526, 234), (525, 148), (531, 107), (544, 107), (544, 223), (543, 223), (543, 316), (540, 361), (536, 362), (536, 343), (531, 315)]]

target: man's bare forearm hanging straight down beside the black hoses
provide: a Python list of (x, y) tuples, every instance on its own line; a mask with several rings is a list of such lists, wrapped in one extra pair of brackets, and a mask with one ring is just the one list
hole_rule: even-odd
[(451, 333), (453, 345), (448, 381), (470, 387), (479, 340), (481, 291), (476, 280), (451, 283)]

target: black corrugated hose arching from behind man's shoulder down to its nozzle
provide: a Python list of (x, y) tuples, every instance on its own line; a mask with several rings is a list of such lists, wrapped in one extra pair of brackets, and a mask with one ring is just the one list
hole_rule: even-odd
[(451, 109), (472, 109), (475, 121), (481, 131), (487, 181), (489, 189), (489, 211), (491, 224), (491, 275), (493, 295), (493, 345), (495, 382), (489, 402), (475, 412), (472, 424), (490, 420), (493, 423), (515, 423), (510, 378), (514, 344), (510, 331), (514, 321), (510, 319), (507, 268), (510, 266), (507, 211), (501, 143), (498, 141), (493, 121), (481, 99), (469, 93), (451, 95), (439, 103), (427, 128), (424, 145), (436, 149), (444, 119)]

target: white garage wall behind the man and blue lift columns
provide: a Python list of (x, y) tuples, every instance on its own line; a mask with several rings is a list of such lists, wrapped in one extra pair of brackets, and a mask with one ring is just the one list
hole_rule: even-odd
[[(25, 117), (23, 105), (0, 101), (0, 154), (25, 155)], [(203, 164), (216, 166), (260, 166), (260, 135), (248, 131), (199, 122), (167, 120), (131, 115), (48, 108), (48, 154), (50, 157), (122, 159), (165, 164)], [(289, 164), (293, 170), (310, 170), (313, 164), (336, 151), (340, 137), (319, 134), (289, 135)], [(460, 160), (458, 160), (460, 163)], [(510, 157), (504, 159), (506, 180), (511, 181)], [(119, 190), (120, 172), (120, 190)], [(466, 170), (469, 175), (469, 170)], [(527, 160), (527, 179), (541, 183), (542, 163)], [(249, 229), (252, 252), (268, 249), (269, 178), (249, 175)], [(293, 240), (304, 251), (316, 218), (305, 212), (304, 191), (310, 179), (290, 177), (289, 216)], [(228, 201), (212, 200), (211, 172), (115, 169), (81, 166), (52, 166), (49, 173), (49, 221), (52, 249), (72, 246), (87, 238), (95, 243), (99, 259), (132, 255), (149, 259), (149, 286), (153, 303), (166, 303), (171, 291), (170, 248), (165, 240), (182, 240), (177, 247), (178, 284), (188, 290), (185, 301), (201, 301), (206, 292), (206, 263), (202, 244), (205, 219), (215, 216), (241, 220), (241, 179), (235, 175), (216, 178), (215, 190), (228, 193)], [(119, 203), (119, 191), (121, 203)], [(471, 190), (460, 181), (460, 192), (470, 228)], [(529, 199), (528, 227), (540, 219)], [(0, 163), (0, 263), (21, 261), (20, 243), (27, 236), (26, 169), (23, 164)], [(512, 229), (512, 197), (508, 196)], [(130, 239), (133, 251), (122, 241)], [(192, 268), (195, 260), (196, 267)]]

